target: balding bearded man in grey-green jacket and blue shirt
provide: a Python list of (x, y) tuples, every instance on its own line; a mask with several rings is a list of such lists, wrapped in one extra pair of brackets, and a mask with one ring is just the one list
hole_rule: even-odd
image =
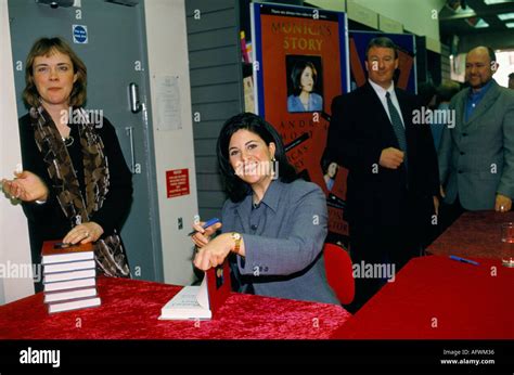
[(438, 151), (442, 227), (465, 210), (506, 212), (514, 196), (514, 92), (500, 87), (488, 47), (466, 56), (468, 88), (451, 101), (454, 127), (446, 127)]

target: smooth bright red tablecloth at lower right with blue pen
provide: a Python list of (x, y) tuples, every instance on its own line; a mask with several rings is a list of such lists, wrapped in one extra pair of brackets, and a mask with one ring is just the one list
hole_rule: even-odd
[(514, 269), (412, 259), (333, 338), (514, 338)]

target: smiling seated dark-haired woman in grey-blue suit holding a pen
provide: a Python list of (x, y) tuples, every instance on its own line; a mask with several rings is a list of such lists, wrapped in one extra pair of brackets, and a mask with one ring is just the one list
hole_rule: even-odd
[(218, 163), (229, 199), (220, 224), (202, 229), (193, 242), (201, 270), (231, 255), (239, 292), (339, 303), (329, 286), (322, 255), (327, 212), (322, 190), (297, 179), (271, 125), (246, 113), (230, 118), (218, 138)]

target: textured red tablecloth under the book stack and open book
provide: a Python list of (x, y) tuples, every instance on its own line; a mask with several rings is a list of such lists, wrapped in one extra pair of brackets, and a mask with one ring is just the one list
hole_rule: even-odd
[(99, 277), (102, 306), (49, 315), (43, 295), (0, 307), (0, 338), (323, 339), (350, 313), (335, 305), (231, 294), (211, 321), (159, 321), (179, 286)]

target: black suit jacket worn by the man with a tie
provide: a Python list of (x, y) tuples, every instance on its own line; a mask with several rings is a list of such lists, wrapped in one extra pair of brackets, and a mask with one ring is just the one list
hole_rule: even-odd
[(367, 82), (357, 90), (332, 102), (327, 153), (348, 169), (347, 209), (351, 224), (394, 223), (400, 219), (400, 205), (408, 198), (420, 215), (431, 215), (433, 196), (439, 192), (437, 156), (429, 125), (412, 124), (419, 109), (416, 96), (396, 89), (406, 125), (408, 170), (380, 166), (382, 150), (399, 148), (395, 131), (372, 86)]

